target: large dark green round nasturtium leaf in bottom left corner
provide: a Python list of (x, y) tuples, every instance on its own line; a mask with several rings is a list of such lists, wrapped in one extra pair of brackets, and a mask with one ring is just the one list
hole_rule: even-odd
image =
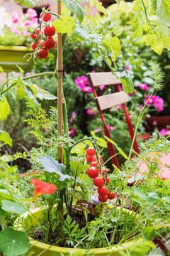
[(0, 233), (0, 248), (6, 256), (24, 255), (28, 252), (29, 246), (28, 235), (23, 231), (6, 228)]

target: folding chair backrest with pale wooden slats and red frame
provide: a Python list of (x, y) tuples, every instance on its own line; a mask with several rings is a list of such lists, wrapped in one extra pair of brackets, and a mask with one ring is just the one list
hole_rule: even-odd
[[(108, 108), (114, 107), (116, 105), (123, 105), (123, 110), (125, 111), (125, 118), (126, 122), (128, 124), (128, 129), (130, 132), (130, 137), (133, 139), (134, 137), (134, 128), (132, 126), (132, 121), (130, 119), (130, 115), (128, 114), (128, 110), (125, 106), (125, 102), (129, 101), (128, 95), (121, 90), (121, 81), (113, 75), (111, 72), (102, 72), (102, 73), (88, 73), (87, 77), (89, 79), (90, 85), (92, 87), (92, 90), (94, 92), (94, 98), (96, 101), (96, 105), (98, 107), (98, 111), (101, 115), (101, 119), (103, 122), (103, 129), (104, 134), (109, 139), (111, 138), (111, 134), (109, 132), (108, 126), (106, 125), (104, 116), (103, 116), (103, 110), (107, 110)], [(117, 92), (111, 93), (109, 95), (103, 95), (98, 96), (95, 87), (99, 87), (101, 85), (114, 85), (116, 87)], [(137, 144), (137, 140), (135, 138), (134, 142), (134, 149), (135, 151), (140, 154), (140, 149)], [(115, 164), (120, 169), (120, 165), (118, 163), (118, 158), (116, 156), (115, 148), (111, 142), (108, 142), (108, 151), (109, 154), (112, 157), (112, 163)]]

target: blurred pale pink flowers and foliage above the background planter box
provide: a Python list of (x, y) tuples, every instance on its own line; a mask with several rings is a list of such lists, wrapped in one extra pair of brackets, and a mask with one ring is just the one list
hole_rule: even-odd
[(0, 45), (29, 46), (29, 31), (38, 26), (37, 12), (28, 9), (26, 14), (13, 11), (10, 15), (0, 7), (0, 14)]

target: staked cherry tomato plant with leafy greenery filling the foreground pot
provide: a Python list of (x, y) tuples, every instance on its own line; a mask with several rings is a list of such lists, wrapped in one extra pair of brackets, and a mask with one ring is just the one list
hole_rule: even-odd
[[(157, 221), (162, 221), (164, 216), (165, 218), (169, 216), (169, 193), (165, 193), (169, 184), (167, 181), (162, 181), (157, 177), (157, 173), (160, 169), (157, 155), (153, 160), (154, 164), (151, 164), (151, 159), (147, 159), (149, 167), (148, 173), (145, 173), (144, 170), (143, 174), (137, 176), (136, 163), (141, 158), (145, 158), (148, 151), (155, 149), (159, 149), (159, 151), (162, 152), (168, 151), (169, 142), (157, 136), (157, 134), (154, 135), (151, 141), (142, 145), (142, 154), (132, 159), (132, 161), (130, 161), (132, 147), (129, 156), (127, 156), (116, 144), (115, 146), (117, 146), (118, 152), (125, 157), (127, 163), (125, 166), (122, 166), (121, 170), (115, 168), (115, 172), (108, 176), (109, 170), (106, 169), (105, 163), (103, 163), (101, 158), (101, 149), (106, 147), (105, 140), (96, 137), (93, 132), (90, 138), (81, 139), (79, 142), (74, 143), (72, 139), (69, 139), (67, 112), (62, 97), (63, 70), (61, 53), (63, 50), (62, 42), (64, 43), (66, 33), (73, 33), (74, 31), (74, 36), (78, 36), (80, 39), (87, 41), (87, 43), (94, 42), (96, 49), (113, 73), (115, 72), (115, 68), (111, 66), (111, 59), (108, 58), (106, 49), (112, 50), (112, 61), (115, 63), (115, 58), (120, 51), (120, 41), (117, 36), (112, 36), (111, 33), (108, 33), (107, 36), (101, 33), (101, 28), (97, 30), (92, 29), (91, 26), (93, 27), (95, 24), (94, 20), (92, 20), (94, 24), (93, 22), (91, 24), (89, 20), (87, 21), (90, 27), (84, 26), (84, 23), (81, 23), (83, 20), (83, 12), (81, 11), (78, 1), (74, 1), (74, 6), (70, 1), (64, 1), (64, 4), (68, 10), (72, 10), (71, 16), (61, 16), (61, 2), (59, 1), (59, 12), (58, 14), (53, 14), (57, 16), (57, 20), (55, 20), (51, 26), (48, 23), (51, 13), (44, 9), (41, 16), (39, 33), (36, 33), (35, 30), (31, 36), (35, 40), (34, 55), (37, 55), (38, 58), (41, 59), (47, 58), (49, 53), (48, 49), (55, 45), (52, 36), (56, 29), (58, 33), (56, 70), (54, 72), (49, 71), (47, 73), (30, 75), (26, 78), (22, 78), (22, 76), (16, 77), (16, 75), (13, 74), (13, 78), (8, 79), (10, 86), (5, 87), (5, 84), (1, 90), (1, 98), (3, 99), (1, 100), (1, 106), (3, 110), (5, 107), (8, 107), (4, 93), (7, 90), (11, 90), (12, 87), (18, 87), (18, 97), (26, 97), (28, 107), (30, 107), (27, 122), (33, 128), (31, 132), (35, 134), (38, 144), (40, 145), (38, 149), (33, 149), (30, 153), (30, 156), (32, 156), (30, 161), (37, 170), (37, 174), (34, 173), (34, 176), (26, 176), (25, 181), (27, 182), (19, 183), (20, 186), (18, 186), (18, 188), (21, 187), (21, 191), (24, 190), (28, 193), (26, 196), (30, 196), (32, 189), (34, 193), (34, 203), (38, 206), (45, 205), (45, 208), (42, 208), (43, 213), (42, 211), (35, 212), (35, 214), (34, 212), (31, 213), (30, 216), (34, 215), (34, 219), (31, 217), (25, 220), (19, 218), (15, 223), (15, 228), (17, 228), (17, 226), (21, 228), (21, 223), (33, 238), (34, 236), (38, 236), (37, 230), (39, 230), (39, 235), (42, 237), (41, 239), (43, 241), (45, 239), (45, 242), (49, 244), (48, 247), (51, 247), (53, 244), (60, 245), (60, 247), (67, 245), (72, 247), (72, 249), (79, 246), (80, 249), (84, 247), (87, 250), (87, 254), (89, 253), (89, 248), (93, 248), (93, 252), (95, 247), (108, 247), (108, 250), (110, 249), (112, 253), (112, 250), (114, 250), (113, 244), (119, 243), (124, 247), (125, 241), (131, 240), (142, 233), (143, 238), (149, 240), (149, 242), (145, 242), (145, 245), (147, 245), (147, 247), (145, 247), (146, 253), (150, 247), (153, 247), (151, 241), (157, 234), (156, 230), (159, 230), (162, 226), (169, 226), (169, 223), (166, 221), (164, 221), (164, 224), (157, 223)], [(96, 4), (98, 4), (97, 1)], [(98, 8), (101, 8), (100, 4)], [(146, 11), (145, 4), (143, 11)], [(74, 13), (77, 13), (78, 19), (72, 17)], [(46, 23), (44, 29), (45, 36), (42, 34), (42, 21)], [(98, 30), (100, 33), (96, 32)], [(114, 33), (116, 35), (119, 32), (116, 30)], [(159, 65), (151, 63), (151, 68), (152, 71), (155, 72), (154, 86), (159, 88), (160, 78), (162, 78)], [(2, 69), (1, 72), (3, 73)], [(31, 82), (27, 82), (27, 80), (31, 78), (43, 75), (54, 75), (57, 77), (58, 82), (58, 108), (57, 110), (51, 110), (51, 119), (47, 118), (45, 111), (38, 105), (36, 97), (42, 98), (43, 96), (46, 99), (52, 99), (52, 95), (47, 95), (47, 92), (44, 92)], [(133, 86), (130, 78), (123, 73), (120, 79), (125, 91), (128, 93), (132, 92)], [(29, 90), (27, 89), (28, 87)], [(34, 95), (30, 90), (34, 92)], [(148, 101), (151, 97), (152, 95), (148, 98)], [(5, 119), (7, 114), (8, 113), (4, 115), (1, 114), (1, 119)], [(140, 123), (142, 114), (143, 111), (140, 114), (137, 125)], [(58, 117), (57, 124), (56, 116)], [(61, 122), (62, 116), (63, 124)], [(62, 126), (64, 135), (62, 134)], [(52, 129), (52, 136), (46, 139), (42, 137), (40, 129), (47, 129), (48, 127)], [(137, 128), (135, 132), (137, 132)], [(9, 143), (7, 134), (1, 136), (0, 139)], [(106, 138), (106, 140), (108, 140), (108, 138)], [(115, 142), (112, 141), (111, 143), (115, 144)], [(30, 156), (26, 153), (18, 153), (16, 155), (16, 157), (26, 159)], [(56, 159), (58, 159), (58, 161)], [(63, 159), (64, 164), (62, 163)], [(43, 172), (39, 172), (42, 168)], [(6, 188), (8, 187), (6, 186)], [(4, 184), (2, 185), (2, 189), (4, 189)], [(38, 203), (38, 197), (43, 194), (47, 194), (48, 196), (45, 196), (45, 198), (42, 197), (42, 201)], [(95, 207), (94, 198), (91, 198), (91, 196), (97, 197), (97, 205)], [(33, 197), (33, 194), (31, 197)], [(23, 200), (25, 199), (28, 198), (23, 198)], [(110, 206), (106, 205), (108, 199), (114, 200)], [(98, 203), (98, 201), (101, 203)], [(119, 208), (117, 208), (117, 206)], [(129, 209), (131, 210), (130, 212)], [(41, 213), (42, 218), (39, 218), (39, 216), (41, 217)], [(39, 215), (38, 218), (36, 218), (36, 214)], [(76, 215), (76, 218), (77, 215), (80, 215), (81, 218), (79, 219), (84, 220), (82, 228), (76, 225), (74, 215)], [(154, 220), (154, 215), (157, 215), (158, 220)], [(35, 220), (38, 221), (38, 225), (36, 225)], [(64, 223), (64, 225), (62, 225), (62, 223)], [(132, 227), (134, 228), (133, 231)], [(43, 237), (44, 229), (47, 231), (45, 238)], [(86, 235), (84, 236), (85, 232)], [(10, 233), (8, 235), (10, 235)], [(6, 238), (4, 230), (1, 232), (0, 237), (0, 247), (2, 248), (2, 242)], [(11, 245), (15, 242), (16, 240), (11, 240)], [(134, 243), (135, 242), (133, 242), (133, 245)], [(117, 245), (114, 245), (114, 247), (116, 246)], [(11, 246), (11, 248), (13, 248), (13, 246)], [(130, 246), (129, 250), (136, 250), (135, 248), (136, 245), (134, 245), (133, 248)], [(7, 249), (9, 248), (4, 248), (3, 250), (5, 255), (22, 254), (22, 248), (18, 254), (16, 254), (16, 252), (6, 252)], [(45, 250), (46, 249), (47, 247), (45, 247)], [(44, 251), (43, 248), (42, 251)], [(110, 252), (108, 251), (108, 253)], [(123, 253), (125, 252), (128, 253), (128, 248), (125, 248)], [(67, 253), (66, 250), (64, 250), (64, 253)], [(119, 255), (121, 252), (115, 251), (115, 253)], [(83, 254), (86, 254), (86, 251), (83, 251)], [(101, 252), (101, 255), (102, 254), (103, 252)]]

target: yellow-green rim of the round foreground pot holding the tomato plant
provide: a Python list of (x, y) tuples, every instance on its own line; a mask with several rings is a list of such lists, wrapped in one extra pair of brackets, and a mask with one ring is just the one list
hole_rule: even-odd
[[(118, 207), (118, 209), (120, 209)], [(23, 221), (28, 217), (28, 215), (30, 215), (30, 217), (35, 219), (40, 218), (40, 211), (42, 212), (42, 208), (34, 208), (34, 209), (30, 209), (29, 211), (27, 211), (26, 213), (23, 213), (22, 215), (20, 215), (18, 218), (16, 218), (13, 227), (16, 230), (23, 230)], [(123, 208), (123, 212), (125, 213), (126, 209)], [(128, 210), (129, 213), (132, 213), (131, 210)], [(39, 215), (38, 215), (39, 213)], [(137, 218), (138, 214), (136, 215), (135, 218)], [(38, 240), (34, 240), (33, 238), (30, 238), (28, 236), (29, 240), (30, 240), (30, 245), (33, 245), (33, 247), (36, 247), (42, 251), (50, 251), (50, 252), (62, 252), (62, 253), (67, 253), (67, 252), (84, 252), (86, 254), (86, 250), (85, 249), (80, 249), (80, 248), (68, 248), (68, 247), (59, 247), (56, 245), (48, 245), (44, 242), (40, 242)], [(112, 247), (100, 247), (100, 248), (91, 248), (88, 252), (89, 253), (94, 253), (97, 256), (101, 256), (101, 255), (108, 255), (108, 253), (113, 252), (114, 255), (119, 255), (119, 252), (123, 252), (126, 251), (126, 249), (132, 247), (132, 245), (134, 245), (136, 242), (142, 242), (143, 239), (142, 238), (133, 238), (132, 240), (130, 240), (129, 242), (124, 242), (121, 245), (113, 245)], [(43, 255), (43, 253), (42, 253)]]

